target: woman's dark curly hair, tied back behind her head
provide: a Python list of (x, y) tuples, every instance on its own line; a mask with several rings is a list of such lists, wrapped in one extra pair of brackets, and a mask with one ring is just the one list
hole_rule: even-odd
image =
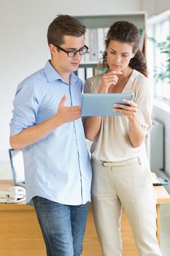
[[(139, 50), (139, 29), (128, 21), (117, 21), (110, 26), (105, 40), (105, 45), (108, 47), (110, 40), (116, 40), (118, 42), (127, 42), (133, 47), (133, 53), (136, 54), (129, 62), (129, 67), (136, 69), (147, 77), (147, 63), (144, 59), (143, 53)], [(103, 54), (102, 67), (108, 67), (107, 64), (107, 52)]]

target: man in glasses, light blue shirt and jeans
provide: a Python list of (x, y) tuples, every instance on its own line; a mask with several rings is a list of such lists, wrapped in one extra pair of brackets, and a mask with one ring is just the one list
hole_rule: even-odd
[(50, 24), (51, 60), (18, 86), (10, 145), (23, 148), (26, 201), (33, 201), (48, 256), (78, 256), (88, 215), (91, 167), (81, 120), (82, 81), (74, 75), (85, 26), (69, 15)]

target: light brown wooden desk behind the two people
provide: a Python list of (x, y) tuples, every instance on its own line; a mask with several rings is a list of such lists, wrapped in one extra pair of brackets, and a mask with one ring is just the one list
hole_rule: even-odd
[[(7, 190), (12, 181), (0, 181), (0, 190)], [(157, 227), (160, 242), (160, 205), (170, 203), (170, 195), (163, 186), (155, 187), (157, 195)], [(131, 227), (123, 212), (122, 217), (123, 256), (137, 256)], [(83, 242), (82, 256), (101, 256), (91, 211)], [(45, 244), (33, 206), (25, 203), (0, 203), (0, 255), (3, 256), (45, 256)]]

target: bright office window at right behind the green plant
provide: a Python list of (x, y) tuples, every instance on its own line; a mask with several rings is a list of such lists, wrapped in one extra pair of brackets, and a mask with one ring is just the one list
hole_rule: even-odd
[[(163, 42), (170, 36), (170, 10), (158, 15), (158, 17), (148, 19), (147, 36), (153, 37), (157, 42)], [(152, 78), (152, 88), (155, 98), (164, 100), (170, 104), (170, 81), (155, 81), (154, 69), (161, 70), (166, 64), (166, 55), (160, 53), (160, 50), (147, 39), (147, 64)]]

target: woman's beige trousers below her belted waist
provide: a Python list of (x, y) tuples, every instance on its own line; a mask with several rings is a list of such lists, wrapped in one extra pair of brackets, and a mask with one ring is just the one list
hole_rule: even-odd
[(122, 162), (92, 159), (93, 216), (103, 256), (123, 255), (122, 206), (141, 256), (161, 256), (156, 238), (155, 192), (151, 172), (138, 157)]

